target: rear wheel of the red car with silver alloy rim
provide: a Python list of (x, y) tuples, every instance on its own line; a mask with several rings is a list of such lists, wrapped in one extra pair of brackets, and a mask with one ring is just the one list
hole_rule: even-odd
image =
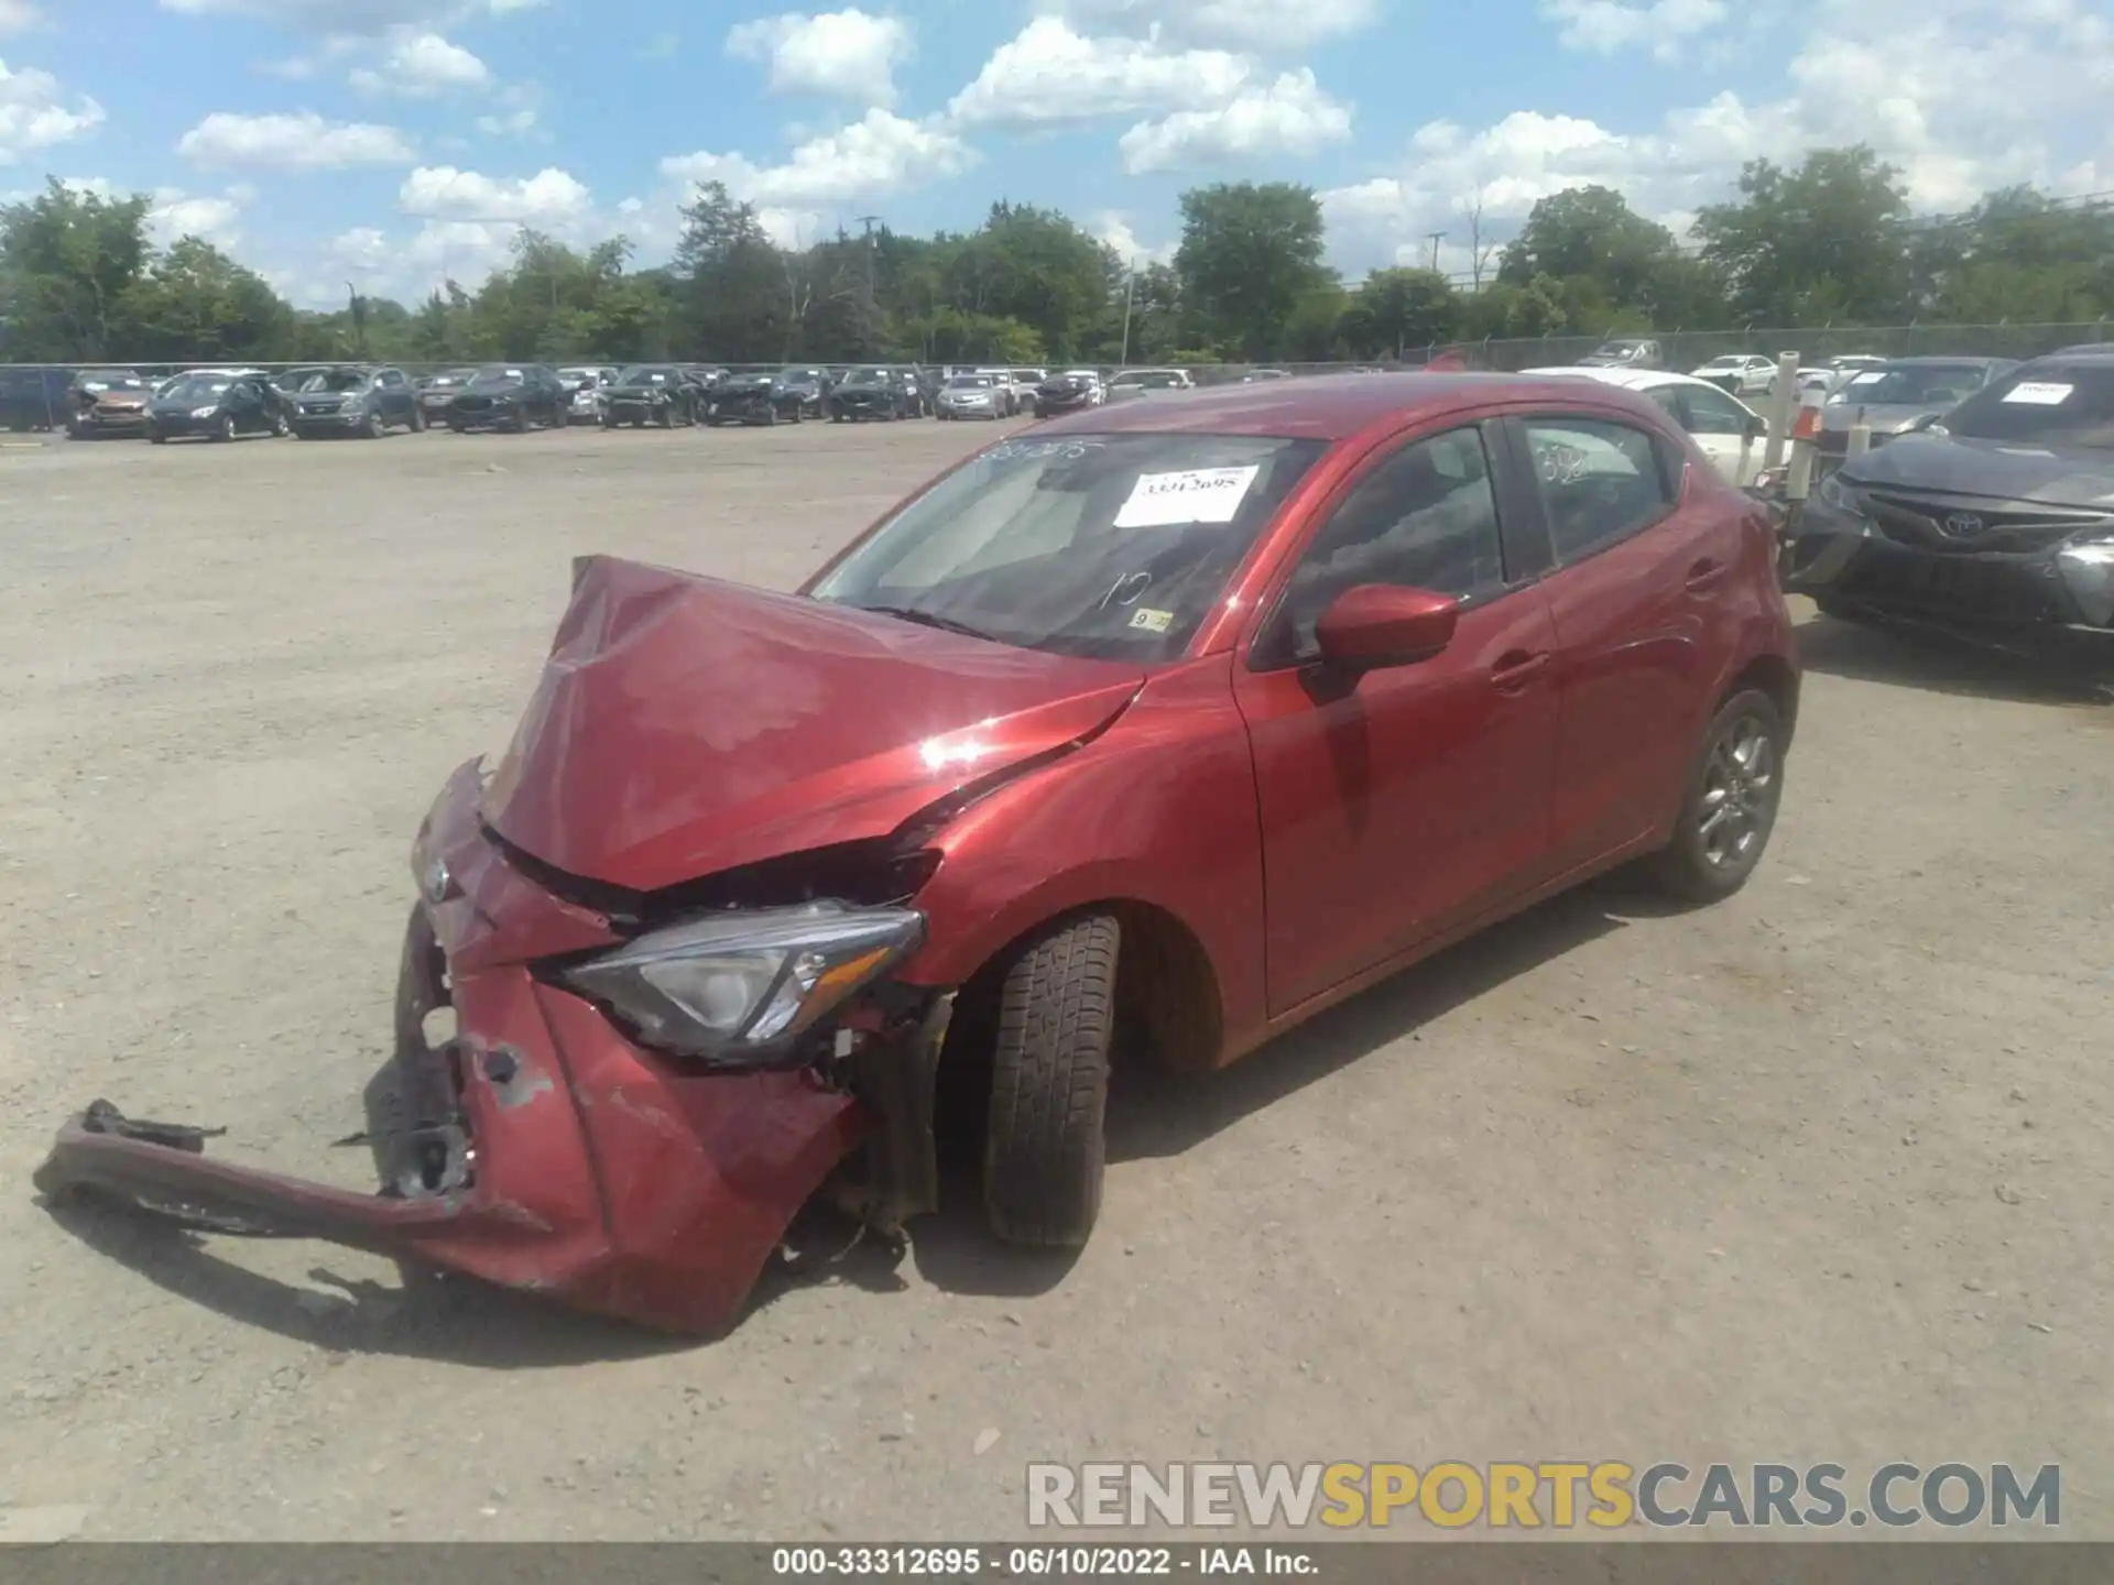
[(1651, 879), (1689, 902), (1731, 896), (1761, 862), (1782, 799), (1784, 721), (1767, 693), (1746, 689), (1710, 719)]

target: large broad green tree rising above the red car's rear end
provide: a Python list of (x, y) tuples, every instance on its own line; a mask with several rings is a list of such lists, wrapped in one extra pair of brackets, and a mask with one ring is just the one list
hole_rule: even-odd
[(1769, 325), (1888, 323), (1909, 306), (1909, 194), (1869, 148), (1822, 148), (1797, 171), (1748, 161), (1736, 203), (1695, 220), (1733, 306)]

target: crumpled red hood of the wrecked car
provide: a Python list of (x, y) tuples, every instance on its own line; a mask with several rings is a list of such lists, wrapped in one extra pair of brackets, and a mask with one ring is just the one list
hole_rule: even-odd
[(558, 871), (653, 892), (884, 837), (1093, 733), (1142, 685), (1135, 666), (588, 556), (484, 818)]

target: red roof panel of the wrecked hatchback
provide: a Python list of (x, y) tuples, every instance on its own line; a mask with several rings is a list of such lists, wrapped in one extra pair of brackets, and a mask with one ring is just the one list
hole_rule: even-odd
[[(1051, 418), (1038, 433), (1190, 433), (1345, 440), (1383, 418), (1414, 421), (1484, 402), (1571, 402), (1577, 383), (1528, 374), (1321, 374), (1309, 380), (1211, 385)], [(1602, 380), (1602, 385), (1611, 385)], [(1712, 387), (1714, 389), (1714, 387)]]

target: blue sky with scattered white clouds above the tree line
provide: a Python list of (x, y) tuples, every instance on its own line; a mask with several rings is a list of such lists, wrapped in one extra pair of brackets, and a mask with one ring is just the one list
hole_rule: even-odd
[(1287, 178), (1340, 266), (1442, 230), (1457, 273), (1562, 186), (1683, 228), (1816, 144), (1926, 209), (2114, 188), (2106, 0), (0, 0), (0, 192), (152, 192), (298, 302), (476, 283), (524, 224), (651, 262), (700, 178), (784, 241), (1006, 197), (1137, 258), (1186, 186)]

